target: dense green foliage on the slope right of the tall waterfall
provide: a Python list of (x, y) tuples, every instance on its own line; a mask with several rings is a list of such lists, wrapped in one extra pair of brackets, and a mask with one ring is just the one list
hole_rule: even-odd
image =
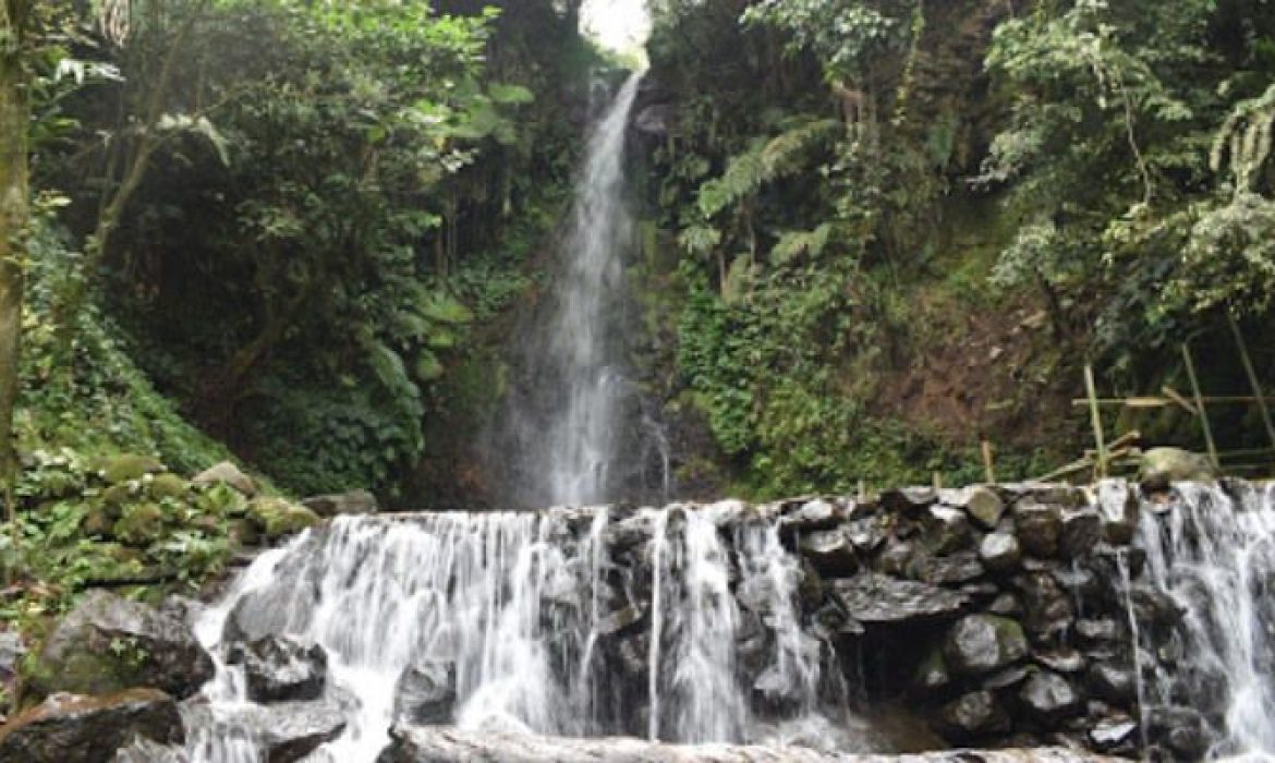
[[(1081, 445), (1086, 357), (1136, 393), (1181, 384), (1177, 344), (1229, 341), (1227, 313), (1261, 336), (1271, 29), (1243, 0), (664, 4), (678, 119), (649, 205), (685, 251), (677, 365), (728, 478), (969, 480), (980, 436), (1031, 476)], [(1233, 351), (1210, 361), (1247, 388)], [(1153, 436), (1193, 444), (1174, 421)]]

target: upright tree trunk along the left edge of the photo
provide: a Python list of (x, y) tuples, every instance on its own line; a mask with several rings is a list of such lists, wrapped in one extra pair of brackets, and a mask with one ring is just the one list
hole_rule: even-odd
[[(26, 75), (22, 68), (22, 3), (8, 3), (0, 33), (18, 45), (0, 54), (0, 485), (11, 486), (18, 459), (13, 413), (18, 404), (18, 357), (22, 348), (24, 237), (29, 214), (27, 177)], [(13, 514), (11, 491), (5, 504)]]

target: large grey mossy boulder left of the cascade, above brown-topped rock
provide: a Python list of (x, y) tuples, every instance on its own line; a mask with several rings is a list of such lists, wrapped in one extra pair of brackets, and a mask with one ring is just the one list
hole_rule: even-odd
[(156, 686), (182, 699), (213, 678), (190, 628), (159, 611), (94, 591), (46, 639), (32, 684), (41, 694), (107, 694)]

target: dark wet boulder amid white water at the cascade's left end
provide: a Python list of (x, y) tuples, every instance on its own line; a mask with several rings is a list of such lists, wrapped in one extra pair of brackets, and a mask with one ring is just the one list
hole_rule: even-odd
[(247, 695), (252, 702), (317, 699), (328, 678), (324, 648), (287, 637), (268, 635), (235, 644), (228, 661), (244, 665)]

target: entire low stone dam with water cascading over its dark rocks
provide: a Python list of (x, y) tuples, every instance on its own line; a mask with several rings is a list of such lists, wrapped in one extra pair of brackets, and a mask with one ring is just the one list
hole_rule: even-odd
[(1230, 481), (342, 517), (193, 615), (163, 759), (1269, 754), (1272, 541)]

